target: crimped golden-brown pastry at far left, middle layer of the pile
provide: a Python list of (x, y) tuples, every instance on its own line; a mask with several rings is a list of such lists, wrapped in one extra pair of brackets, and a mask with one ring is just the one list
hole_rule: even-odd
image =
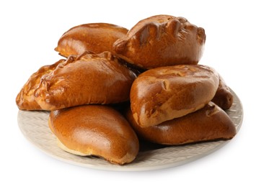
[(56, 110), (120, 103), (129, 100), (135, 78), (136, 74), (110, 52), (71, 55), (43, 73), (34, 73), (20, 91), (17, 105), (19, 109)]

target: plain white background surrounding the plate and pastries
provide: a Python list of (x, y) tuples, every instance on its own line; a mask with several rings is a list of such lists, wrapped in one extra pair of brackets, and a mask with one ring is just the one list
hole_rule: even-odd
[[(253, 1), (1, 1), (0, 186), (250, 186), (255, 182)], [(15, 97), (27, 78), (61, 57), (53, 49), (67, 29), (108, 22), (130, 29), (155, 14), (182, 16), (206, 29), (200, 64), (211, 65), (244, 107), (242, 128), (228, 145), (193, 163), (148, 172), (110, 172), (63, 163), (28, 142), (17, 125)]]

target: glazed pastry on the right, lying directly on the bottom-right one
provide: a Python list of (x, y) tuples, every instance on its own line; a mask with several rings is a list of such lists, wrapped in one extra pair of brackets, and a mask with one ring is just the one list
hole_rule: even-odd
[(216, 93), (218, 73), (206, 65), (146, 70), (131, 87), (131, 111), (141, 127), (160, 124), (203, 108)]

